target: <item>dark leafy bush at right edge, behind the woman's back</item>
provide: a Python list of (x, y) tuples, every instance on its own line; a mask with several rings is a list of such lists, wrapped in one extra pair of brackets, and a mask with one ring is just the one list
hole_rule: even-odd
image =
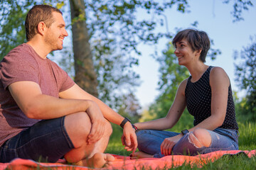
[(256, 120), (256, 36), (252, 43), (243, 47), (240, 55), (235, 53), (235, 81), (241, 89), (245, 89), (246, 96), (240, 101), (240, 114), (247, 115), (248, 120)]

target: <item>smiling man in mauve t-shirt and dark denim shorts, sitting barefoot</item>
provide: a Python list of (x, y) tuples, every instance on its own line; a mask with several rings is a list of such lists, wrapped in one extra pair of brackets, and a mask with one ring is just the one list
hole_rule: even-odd
[(56, 162), (65, 157), (82, 166), (109, 166), (104, 154), (112, 133), (122, 125), (122, 142), (135, 151), (131, 123), (87, 94), (47, 55), (63, 49), (68, 36), (61, 11), (36, 5), (26, 16), (28, 42), (0, 64), (0, 162), (23, 159)]

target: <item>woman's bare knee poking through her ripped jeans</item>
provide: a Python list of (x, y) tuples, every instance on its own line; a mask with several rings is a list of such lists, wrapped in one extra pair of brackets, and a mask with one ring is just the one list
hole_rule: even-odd
[(197, 148), (210, 147), (211, 136), (208, 130), (197, 128), (196, 130), (188, 134), (188, 141)]

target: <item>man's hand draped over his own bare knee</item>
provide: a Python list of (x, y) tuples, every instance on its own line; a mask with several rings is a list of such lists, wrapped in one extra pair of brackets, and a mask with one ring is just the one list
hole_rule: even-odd
[(86, 113), (89, 115), (92, 123), (92, 128), (88, 135), (87, 142), (89, 144), (93, 144), (103, 136), (106, 120), (103, 117), (99, 106), (94, 101), (90, 101), (90, 106), (87, 108)]

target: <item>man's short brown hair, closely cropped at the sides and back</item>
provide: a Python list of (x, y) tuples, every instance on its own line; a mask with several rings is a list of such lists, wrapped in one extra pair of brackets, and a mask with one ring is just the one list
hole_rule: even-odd
[(35, 5), (28, 11), (25, 21), (26, 28), (26, 40), (29, 41), (37, 33), (38, 23), (46, 23), (46, 27), (49, 28), (54, 22), (53, 12), (58, 12), (62, 15), (62, 12), (58, 8), (48, 5)]

